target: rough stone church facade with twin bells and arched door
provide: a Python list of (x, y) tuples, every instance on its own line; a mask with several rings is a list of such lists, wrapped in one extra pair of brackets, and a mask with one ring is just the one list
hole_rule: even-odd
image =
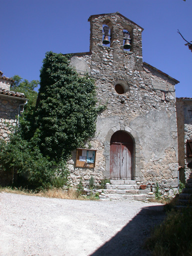
[(98, 104), (106, 108), (98, 114), (89, 141), (96, 149), (95, 165), (76, 166), (74, 151), (71, 184), (77, 185), (80, 177), (87, 184), (92, 175), (96, 182), (105, 177), (158, 182), (163, 193), (173, 194), (178, 185), (178, 81), (142, 61), (142, 27), (119, 12), (91, 15), (88, 21), (90, 49), (72, 53), (70, 64), (80, 75), (88, 72), (94, 78)]

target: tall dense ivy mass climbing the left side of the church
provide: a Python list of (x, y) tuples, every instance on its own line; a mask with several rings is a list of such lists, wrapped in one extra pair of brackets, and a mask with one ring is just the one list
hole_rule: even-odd
[(94, 81), (80, 77), (69, 65), (70, 55), (47, 52), (40, 70), (36, 110), (39, 148), (58, 161), (83, 145), (95, 131)]

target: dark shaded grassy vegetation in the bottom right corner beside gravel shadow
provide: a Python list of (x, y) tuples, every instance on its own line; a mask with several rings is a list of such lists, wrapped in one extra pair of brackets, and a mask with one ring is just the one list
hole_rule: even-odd
[(192, 255), (192, 209), (171, 210), (145, 245), (154, 256)]

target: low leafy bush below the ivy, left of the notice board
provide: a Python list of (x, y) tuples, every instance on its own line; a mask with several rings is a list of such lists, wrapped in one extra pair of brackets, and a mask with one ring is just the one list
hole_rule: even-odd
[(17, 187), (48, 188), (56, 184), (58, 177), (62, 178), (62, 183), (66, 183), (66, 170), (54, 169), (52, 165), (53, 162), (43, 157), (37, 146), (24, 140), (18, 132), (11, 135), (7, 143), (0, 140), (0, 169), (14, 170), (17, 178), (13, 185)]

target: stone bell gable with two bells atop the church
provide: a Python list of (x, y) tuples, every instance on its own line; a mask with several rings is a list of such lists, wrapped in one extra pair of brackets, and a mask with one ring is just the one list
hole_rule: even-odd
[[(103, 51), (110, 52), (113, 65), (129, 69), (142, 70), (142, 27), (124, 17), (119, 12), (91, 15), (90, 21), (90, 51), (93, 61), (103, 61)], [(109, 43), (103, 45), (103, 26), (108, 27)], [(126, 33), (130, 42), (129, 51), (123, 48)], [(131, 66), (129, 64), (131, 62)]]

